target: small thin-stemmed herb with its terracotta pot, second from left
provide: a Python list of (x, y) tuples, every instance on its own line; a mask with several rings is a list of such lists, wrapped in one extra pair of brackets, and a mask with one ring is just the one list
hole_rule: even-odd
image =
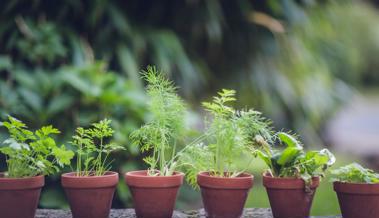
[(111, 120), (76, 129), (71, 144), (77, 147), (75, 172), (62, 175), (62, 186), (74, 218), (109, 216), (118, 173), (110, 171), (109, 155), (123, 147), (106, 140), (113, 135)]

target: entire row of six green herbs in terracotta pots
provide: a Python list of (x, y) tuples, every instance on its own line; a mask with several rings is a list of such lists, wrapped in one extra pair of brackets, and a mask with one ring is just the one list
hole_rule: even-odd
[[(275, 132), (260, 112), (236, 110), (230, 106), (236, 101), (235, 91), (226, 89), (203, 103), (209, 112), (205, 130), (191, 140), (185, 123), (187, 106), (173, 83), (154, 67), (142, 75), (151, 116), (130, 139), (148, 154), (144, 158), (148, 169), (125, 174), (137, 217), (171, 217), (184, 175), (201, 190), (207, 217), (240, 217), (253, 186), (248, 169), (255, 157), (269, 168), (263, 173), (263, 185), (273, 216), (309, 216), (320, 179), (335, 162), (332, 153), (327, 149), (305, 151), (296, 135)], [(13, 117), (1, 125), (10, 135), (0, 148), (8, 167), (0, 174), (2, 216), (34, 217), (44, 176), (70, 165), (75, 153), (73, 172), (61, 176), (73, 217), (109, 216), (119, 181), (118, 173), (110, 171), (110, 154), (124, 149), (110, 142), (114, 133), (110, 120), (77, 128), (70, 142), (75, 152), (56, 144), (52, 135), (59, 130), (52, 126), (32, 132)], [(358, 164), (332, 174), (343, 217), (375, 217), (379, 213), (378, 174)]]

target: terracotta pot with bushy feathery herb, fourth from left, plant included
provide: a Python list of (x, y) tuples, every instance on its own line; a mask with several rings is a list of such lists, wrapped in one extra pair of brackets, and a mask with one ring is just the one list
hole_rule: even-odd
[(240, 162), (256, 144), (256, 138), (271, 140), (270, 121), (258, 111), (237, 111), (228, 103), (235, 91), (223, 89), (203, 106), (212, 115), (207, 119), (204, 143), (188, 146), (180, 154), (187, 180), (201, 189), (207, 217), (237, 218), (243, 213), (253, 176), (250, 163)]

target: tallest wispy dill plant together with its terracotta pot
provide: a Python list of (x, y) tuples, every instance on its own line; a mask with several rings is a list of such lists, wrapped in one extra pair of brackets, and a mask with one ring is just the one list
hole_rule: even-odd
[(186, 106), (176, 94), (171, 81), (163, 77), (155, 67), (143, 71), (147, 81), (148, 109), (151, 119), (131, 135), (131, 141), (142, 152), (150, 152), (144, 158), (147, 170), (125, 174), (137, 217), (171, 217), (177, 191), (184, 174), (177, 172), (177, 145), (183, 139)]

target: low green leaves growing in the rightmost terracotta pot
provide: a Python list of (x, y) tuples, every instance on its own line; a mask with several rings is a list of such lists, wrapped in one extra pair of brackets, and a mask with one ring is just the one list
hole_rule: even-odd
[(358, 163), (332, 170), (332, 181), (350, 182), (350, 183), (379, 183), (379, 174), (371, 169), (367, 169)]

